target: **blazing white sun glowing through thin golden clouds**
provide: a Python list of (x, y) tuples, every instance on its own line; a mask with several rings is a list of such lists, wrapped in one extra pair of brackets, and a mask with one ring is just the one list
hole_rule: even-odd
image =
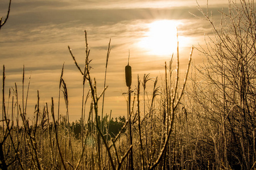
[(174, 53), (177, 48), (177, 26), (175, 20), (158, 20), (148, 24), (139, 46), (148, 54), (165, 56)]

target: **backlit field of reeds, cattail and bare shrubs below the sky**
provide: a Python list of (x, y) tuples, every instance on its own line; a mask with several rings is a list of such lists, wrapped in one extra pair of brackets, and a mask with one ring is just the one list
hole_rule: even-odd
[[(6, 96), (3, 65), (0, 168), (255, 169), (254, 2), (230, 2), (228, 14), (220, 11), (222, 19), (217, 26), (209, 11), (200, 7), (199, 11), (212, 25), (214, 36), (205, 42), (206, 48), (192, 47), (184, 76), (180, 74), (179, 44), (177, 56), (164, 63), (162, 82), (150, 74), (131, 82), (136, 73), (127, 58), (123, 66), (126, 117), (103, 114), (108, 86), (104, 83), (104, 88), (98, 89), (91, 77), (93, 59), (86, 31), (84, 68), (68, 47), (74, 67), (83, 77), (81, 116), (75, 122), (69, 121), (64, 65), (59, 98), (40, 105), (38, 91), (34, 117), (27, 116), (30, 82), (24, 83), (24, 69), (22, 90), (18, 91), (15, 84)], [(110, 50), (109, 42), (105, 77), (97, 78), (104, 82)], [(206, 58), (201, 66), (192, 65), (195, 50)], [(64, 115), (60, 114), (61, 97), (65, 101)]]

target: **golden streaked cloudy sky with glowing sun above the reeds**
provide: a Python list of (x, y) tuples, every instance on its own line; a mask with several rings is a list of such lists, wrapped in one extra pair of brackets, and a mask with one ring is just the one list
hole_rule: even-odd
[[(198, 3), (206, 11), (207, 1), (200, 0)], [(227, 7), (227, 3), (228, 1), (208, 1), (214, 19), (220, 17), (218, 10)], [(3, 16), (3, 19), (6, 17), (8, 5), (9, 1), (0, 1), (0, 16)], [(191, 13), (202, 16), (194, 0), (13, 1), (9, 19), (0, 31), (0, 78), (2, 80), (3, 65), (5, 65), (6, 100), (9, 88), (12, 91), (16, 83), (19, 103), (22, 102), (24, 65), (25, 94), (31, 75), (28, 116), (34, 113), (37, 90), (39, 90), (40, 106), (45, 103), (50, 105), (51, 97), (57, 106), (59, 79), (64, 63), (63, 78), (68, 88), (69, 116), (71, 121), (79, 120), (82, 75), (69, 54), (68, 46), (83, 68), (86, 30), (90, 49), (89, 58), (92, 59), (93, 67), (91, 74), (96, 78), (98, 94), (103, 90), (106, 53), (111, 39), (104, 114), (112, 112), (112, 117), (127, 116), (126, 96), (122, 94), (127, 91), (125, 66), (129, 51), (129, 64), (133, 76), (131, 88), (135, 88), (137, 84), (137, 75), (141, 79), (144, 74), (150, 74), (154, 78), (158, 76), (161, 82), (164, 62), (170, 61), (172, 53), (176, 56), (176, 30), (178, 30), (181, 70), (186, 69), (192, 45), (195, 47), (199, 44), (204, 45), (204, 35), (212, 34), (210, 24)], [(195, 65), (202, 62), (197, 50), (193, 52), (192, 61)], [(153, 82), (151, 87), (152, 84)], [(86, 84), (85, 92), (87, 93), (88, 90)], [(150, 86), (148, 91), (152, 91)], [(64, 100), (61, 100), (61, 108), (64, 108)], [(89, 108), (86, 108), (86, 111), (89, 111)], [(61, 110), (61, 114), (65, 114), (64, 109)]]

